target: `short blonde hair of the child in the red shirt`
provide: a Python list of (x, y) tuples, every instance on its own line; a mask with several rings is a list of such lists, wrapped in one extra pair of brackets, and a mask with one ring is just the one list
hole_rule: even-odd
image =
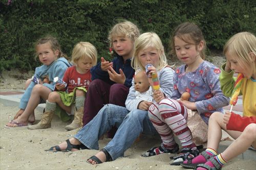
[(78, 42), (72, 52), (71, 62), (77, 65), (77, 61), (82, 58), (90, 58), (92, 60), (92, 65), (97, 63), (97, 49), (90, 42)]

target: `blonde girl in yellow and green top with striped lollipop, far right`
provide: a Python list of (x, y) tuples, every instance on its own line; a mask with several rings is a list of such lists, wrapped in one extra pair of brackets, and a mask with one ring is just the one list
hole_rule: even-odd
[[(248, 148), (256, 148), (256, 37), (249, 32), (233, 35), (225, 44), (223, 53), (227, 62), (222, 65), (220, 75), (221, 89), (231, 97), (234, 89), (234, 72), (243, 74), (240, 95), (243, 95), (243, 116), (226, 111), (225, 114), (215, 112), (210, 116), (208, 143), (206, 152), (185, 161), (182, 166), (196, 169), (221, 169), (229, 160), (245, 152)], [(217, 149), (226, 131), (234, 142), (221, 154)], [(211, 151), (211, 152), (207, 152)]]

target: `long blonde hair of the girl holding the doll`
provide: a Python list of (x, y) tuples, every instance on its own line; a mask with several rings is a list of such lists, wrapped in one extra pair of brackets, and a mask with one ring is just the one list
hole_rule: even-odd
[(156, 33), (148, 32), (141, 34), (136, 40), (134, 45), (134, 54), (132, 58), (132, 67), (137, 70), (145, 70), (145, 67), (139, 61), (138, 53), (148, 47), (154, 47), (157, 49), (159, 54), (159, 63), (155, 66), (158, 70), (167, 66), (167, 59), (164, 54), (164, 47), (161, 39)]

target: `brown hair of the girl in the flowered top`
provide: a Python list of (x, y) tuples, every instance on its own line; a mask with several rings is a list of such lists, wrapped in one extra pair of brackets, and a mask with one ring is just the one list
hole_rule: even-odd
[(205, 59), (206, 42), (204, 40), (204, 36), (203, 36), (202, 31), (200, 30), (200, 28), (197, 25), (195, 25), (195, 23), (184, 22), (184, 23), (181, 23), (175, 29), (175, 31), (173, 33), (173, 36), (171, 38), (171, 42), (170, 42), (170, 46), (172, 47), (171, 53), (174, 56), (176, 56), (175, 43), (174, 43), (175, 37), (178, 37), (178, 38), (182, 39), (186, 43), (195, 44), (197, 50), (198, 50), (197, 45), (199, 45), (199, 43), (201, 41), (203, 41), (204, 46), (203, 46), (203, 49), (200, 52), (200, 56), (203, 60)]

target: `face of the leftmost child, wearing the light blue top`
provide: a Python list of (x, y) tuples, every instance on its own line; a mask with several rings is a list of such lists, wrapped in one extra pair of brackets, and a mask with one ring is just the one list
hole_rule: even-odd
[(36, 46), (36, 52), (39, 57), (39, 60), (44, 65), (50, 65), (53, 61), (57, 60), (59, 51), (55, 52), (51, 49), (51, 44), (49, 42), (44, 44), (38, 44)]

